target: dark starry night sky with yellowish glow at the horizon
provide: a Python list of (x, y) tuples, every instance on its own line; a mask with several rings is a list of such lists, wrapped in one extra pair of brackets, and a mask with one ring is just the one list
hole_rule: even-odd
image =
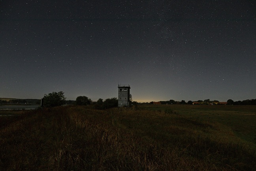
[(256, 98), (255, 0), (0, 0), (0, 97)]

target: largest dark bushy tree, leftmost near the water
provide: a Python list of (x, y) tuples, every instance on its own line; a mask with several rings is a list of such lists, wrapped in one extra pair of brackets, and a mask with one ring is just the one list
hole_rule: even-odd
[(52, 92), (48, 95), (45, 94), (43, 96), (43, 106), (44, 107), (55, 107), (63, 105), (66, 101), (66, 98), (64, 97), (64, 92)]

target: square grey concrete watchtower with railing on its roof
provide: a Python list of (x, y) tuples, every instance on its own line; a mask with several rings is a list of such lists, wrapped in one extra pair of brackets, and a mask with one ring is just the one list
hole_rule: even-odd
[(118, 85), (118, 107), (130, 106), (130, 85)]

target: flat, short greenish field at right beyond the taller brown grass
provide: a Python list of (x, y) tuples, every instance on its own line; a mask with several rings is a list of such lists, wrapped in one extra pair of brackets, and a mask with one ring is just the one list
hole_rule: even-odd
[(199, 122), (217, 122), (228, 126), (245, 141), (256, 144), (255, 105), (145, 105), (144, 109), (173, 111)]

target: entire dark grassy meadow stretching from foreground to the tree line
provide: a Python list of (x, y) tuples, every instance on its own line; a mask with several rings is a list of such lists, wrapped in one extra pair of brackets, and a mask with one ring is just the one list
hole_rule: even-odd
[(255, 171), (256, 106), (66, 106), (0, 117), (0, 170)]

